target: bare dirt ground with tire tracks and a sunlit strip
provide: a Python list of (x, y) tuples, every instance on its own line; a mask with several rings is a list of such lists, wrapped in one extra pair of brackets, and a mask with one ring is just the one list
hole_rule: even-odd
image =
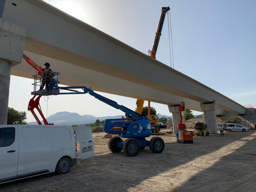
[[(167, 130), (161, 130), (166, 132)], [(0, 192), (212, 192), (256, 191), (256, 132), (194, 137), (193, 144), (162, 135), (165, 149), (149, 147), (135, 157), (111, 153), (105, 133), (94, 133), (95, 156), (78, 159), (65, 175), (55, 173), (0, 185)]]

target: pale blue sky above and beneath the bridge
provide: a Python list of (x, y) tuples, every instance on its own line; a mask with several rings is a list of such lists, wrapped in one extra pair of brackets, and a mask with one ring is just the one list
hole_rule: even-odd
[[(254, 89), (256, 1), (45, 1), (145, 54), (152, 49), (161, 7), (169, 6), (174, 69), (230, 97), (241, 105), (256, 105)], [(156, 59), (170, 66), (167, 17)], [(31, 95), (21, 96), (24, 104), (16, 101), (14, 99), (17, 93), (15, 81), (24, 84), (22, 89), (18, 89), (29, 93), (32, 91), (31, 80), (11, 76), (9, 106), (26, 111)], [(104, 93), (103, 95), (131, 109), (135, 108), (136, 99)], [(94, 116), (123, 114), (90, 96), (81, 96), (77, 99), (73, 96), (65, 96), (61, 99), (63, 99), (62, 102), (85, 99), (84, 102), (88, 101), (93, 104), (88, 104), (88, 108), (79, 107), (77, 103), (60, 105), (59, 99), (50, 99), (48, 116), (64, 110)], [(54, 104), (54, 109), (49, 106), (49, 103)], [(43, 99), (41, 105), (46, 115), (47, 105)], [(171, 115), (166, 105), (153, 103), (151, 106), (156, 108), (157, 113)], [(194, 112), (194, 114), (200, 113)], [(34, 121), (30, 113), (27, 113), (27, 116), (28, 122)]]

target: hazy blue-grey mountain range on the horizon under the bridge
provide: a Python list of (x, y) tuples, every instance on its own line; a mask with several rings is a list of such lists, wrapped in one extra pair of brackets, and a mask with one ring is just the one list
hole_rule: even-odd
[[(89, 124), (95, 123), (96, 119), (100, 121), (105, 119), (121, 119), (124, 115), (116, 115), (116, 116), (104, 116), (104, 117), (95, 117), (93, 115), (79, 115), (78, 113), (70, 113), (68, 111), (62, 111), (55, 113), (47, 118), (48, 123), (54, 123), (54, 125), (80, 125), (80, 124)], [(167, 115), (158, 115), (158, 118), (172, 118), (172, 116)], [(43, 121), (41, 121), (43, 124)], [(37, 122), (29, 122), (29, 125), (37, 125)]]

